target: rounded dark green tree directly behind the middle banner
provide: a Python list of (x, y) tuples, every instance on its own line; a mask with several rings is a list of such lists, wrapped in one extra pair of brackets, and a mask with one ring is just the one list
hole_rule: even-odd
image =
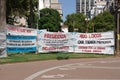
[(62, 19), (57, 10), (50, 8), (40, 10), (39, 29), (47, 29), (53, 32), (60, 31), (61, 22)]

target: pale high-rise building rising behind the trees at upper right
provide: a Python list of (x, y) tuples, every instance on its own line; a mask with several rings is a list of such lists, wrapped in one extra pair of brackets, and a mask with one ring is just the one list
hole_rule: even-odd
[(100, 14), (108, 9), (114, 0), (76, 0), (76, 12), (83, 13), (88, 18)]

